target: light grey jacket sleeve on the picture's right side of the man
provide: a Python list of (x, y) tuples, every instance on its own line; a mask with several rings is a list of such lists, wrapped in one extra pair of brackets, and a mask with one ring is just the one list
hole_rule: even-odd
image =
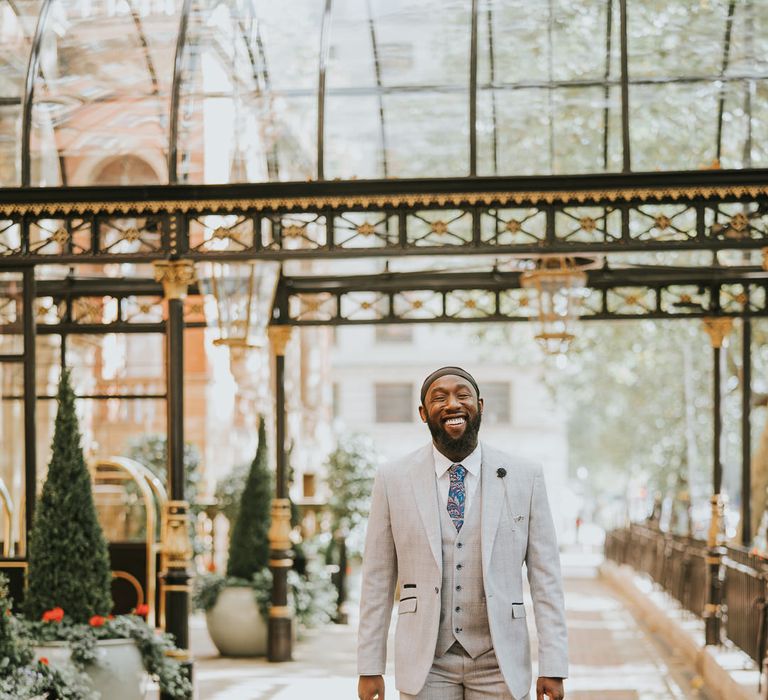
[(560, 552), (541, 467), (536, 468), (533, 478), (526, 563), (539, 639), (539, 676), (565, 678), (568, 676), (568, 632)]

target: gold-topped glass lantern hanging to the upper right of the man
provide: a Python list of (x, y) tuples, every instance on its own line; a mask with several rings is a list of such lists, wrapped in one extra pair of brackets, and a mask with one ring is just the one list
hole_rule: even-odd
[(585, 262), (562, 255), (542, 256), (520, 276), (520, 285), (536, 290), (539, 332), (536, 340), (548, 355), (568, 352), (574, 339), (581, 292), (587, 282)]

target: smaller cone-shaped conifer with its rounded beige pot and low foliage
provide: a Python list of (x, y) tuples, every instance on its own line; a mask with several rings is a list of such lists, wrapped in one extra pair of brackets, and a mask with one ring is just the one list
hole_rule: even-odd
[(261, 656), (267, 652), (272, 475), (263, 419), (258, 439), (232, 523), (226, 576), (211, 574), (196, 582), (195, 603), (206, 611), (208, 633), (224, 656)]

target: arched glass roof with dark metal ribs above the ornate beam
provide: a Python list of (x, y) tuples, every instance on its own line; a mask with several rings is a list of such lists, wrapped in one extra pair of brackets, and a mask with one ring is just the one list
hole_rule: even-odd
[(622, 4), (0, 0), (0, 186), (768, 166), (768, 0)]

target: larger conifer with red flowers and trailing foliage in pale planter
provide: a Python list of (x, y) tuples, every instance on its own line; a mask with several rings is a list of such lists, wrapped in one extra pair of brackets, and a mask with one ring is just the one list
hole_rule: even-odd
[(51, 462), (29, 538), (28, 589), (20, 634), (39, 659), (62, 673), (84, 670), (97, 697), (143, 697), (144, 672), (185, 698), (191, 684), (166, 654), (169, 636), (143, 619), (145, 610), (112, 617), (107, 543), (93, 503), (80, 444), (69, 372), (62, 373)]

